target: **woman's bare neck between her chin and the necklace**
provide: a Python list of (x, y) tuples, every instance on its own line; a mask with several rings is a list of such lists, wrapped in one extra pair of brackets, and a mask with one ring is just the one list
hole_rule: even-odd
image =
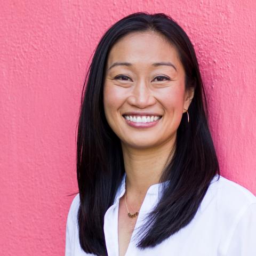
[(174, 142), (175, 138), (147, 149), (133, 148), (122, 143), (126, 189), (130, 198), (143, 198), (151, 185), (159, 183), (165, 165), (172, 158)]

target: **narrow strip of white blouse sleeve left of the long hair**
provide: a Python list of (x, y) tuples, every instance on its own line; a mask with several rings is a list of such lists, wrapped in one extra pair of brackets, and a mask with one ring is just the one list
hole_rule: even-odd
[(77, 218), (77, 207), (79, 204), (79, 194), (75, 196), (73, 199), (69, 212), (68, 212), (68, 217), (67, 217), (67, 223), (66, 223), (66, 246), (65, 246), (65, 256), (73, 256), (72, 254), (72, 247), (74, 247), (73, 244), (73, 233), (74, 233), (74, 228), (75, 228), (75, 222)]

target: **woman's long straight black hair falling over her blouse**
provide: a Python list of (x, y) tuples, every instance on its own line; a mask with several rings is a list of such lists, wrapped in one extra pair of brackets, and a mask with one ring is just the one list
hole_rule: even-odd
[[(209, 126), (204, 86), (194, 47), (185, 31), (163, 13), (133, 13), (111, 26), (101, 38), (82, 93), (77, 131), (79, 242), (86, 253), (107, 255), (104, 215), (114, 203), (124, 175), (121, 141), (111, 130), (103, 110), (105, 68), (111, 47), (129, 33), (154, 31), (175, 47), (185, 69), (186, 88), (194, 98), (177, 131), (175, 150), (160, 182), (170, 181), (156, 207), (140, 227), (139, 249), (154, 247), (194, 218), (213, 177), (219, 173)], [(170, 152), (171, 155), (171, 152)]]

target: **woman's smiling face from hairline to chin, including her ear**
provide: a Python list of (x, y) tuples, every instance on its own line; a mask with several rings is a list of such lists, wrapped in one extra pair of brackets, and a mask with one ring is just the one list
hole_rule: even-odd
[(173, 141), (192, 97), (178, 53), (164, 36), (132, 33), (110, 50), (103, 104), (122, 146), (153, 148)]

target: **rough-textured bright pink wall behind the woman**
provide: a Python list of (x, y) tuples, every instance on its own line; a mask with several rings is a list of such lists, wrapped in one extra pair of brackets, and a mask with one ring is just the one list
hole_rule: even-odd
[(187, 31), (221, 174), (256, 195), (254, 0), (1, 2), (1, 255), (64, 254), (87, 63), (103, 32), (132, 12), (165, 12)]

